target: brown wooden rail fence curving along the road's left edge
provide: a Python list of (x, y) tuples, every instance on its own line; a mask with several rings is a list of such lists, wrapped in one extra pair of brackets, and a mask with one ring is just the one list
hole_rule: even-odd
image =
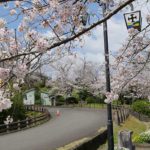
[(28, 111), (42, 112), (42, 114), (37, 117), (26, 118), (25, 120), (18, 120), (17, 122), (12, 122), (7, 125), (6, 124), (0, 125), (0, 134), (1, 135), (6, 134), (6, 133), (24, 130), (27, 128), (31, 128), (31, 127), (39, 125), (45, 121), (48, 121), (51, 117), (49, 111), (44, 107), (25, 106), (25, 109)]

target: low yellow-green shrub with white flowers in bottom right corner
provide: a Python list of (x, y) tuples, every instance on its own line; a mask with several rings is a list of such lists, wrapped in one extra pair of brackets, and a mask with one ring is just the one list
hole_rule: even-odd
[(150, 143), (150, 130), (135, 136), (133, 141), (135, 143)]

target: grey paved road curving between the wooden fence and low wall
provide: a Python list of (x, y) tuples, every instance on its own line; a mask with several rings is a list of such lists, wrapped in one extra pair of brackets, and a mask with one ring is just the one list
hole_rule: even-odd
[(93, 135), (106, 125), (106, 110), (50, 108), (53, 118), (45, 124), (0, 136), (0, 150), (54, 150), (77, 139)]

